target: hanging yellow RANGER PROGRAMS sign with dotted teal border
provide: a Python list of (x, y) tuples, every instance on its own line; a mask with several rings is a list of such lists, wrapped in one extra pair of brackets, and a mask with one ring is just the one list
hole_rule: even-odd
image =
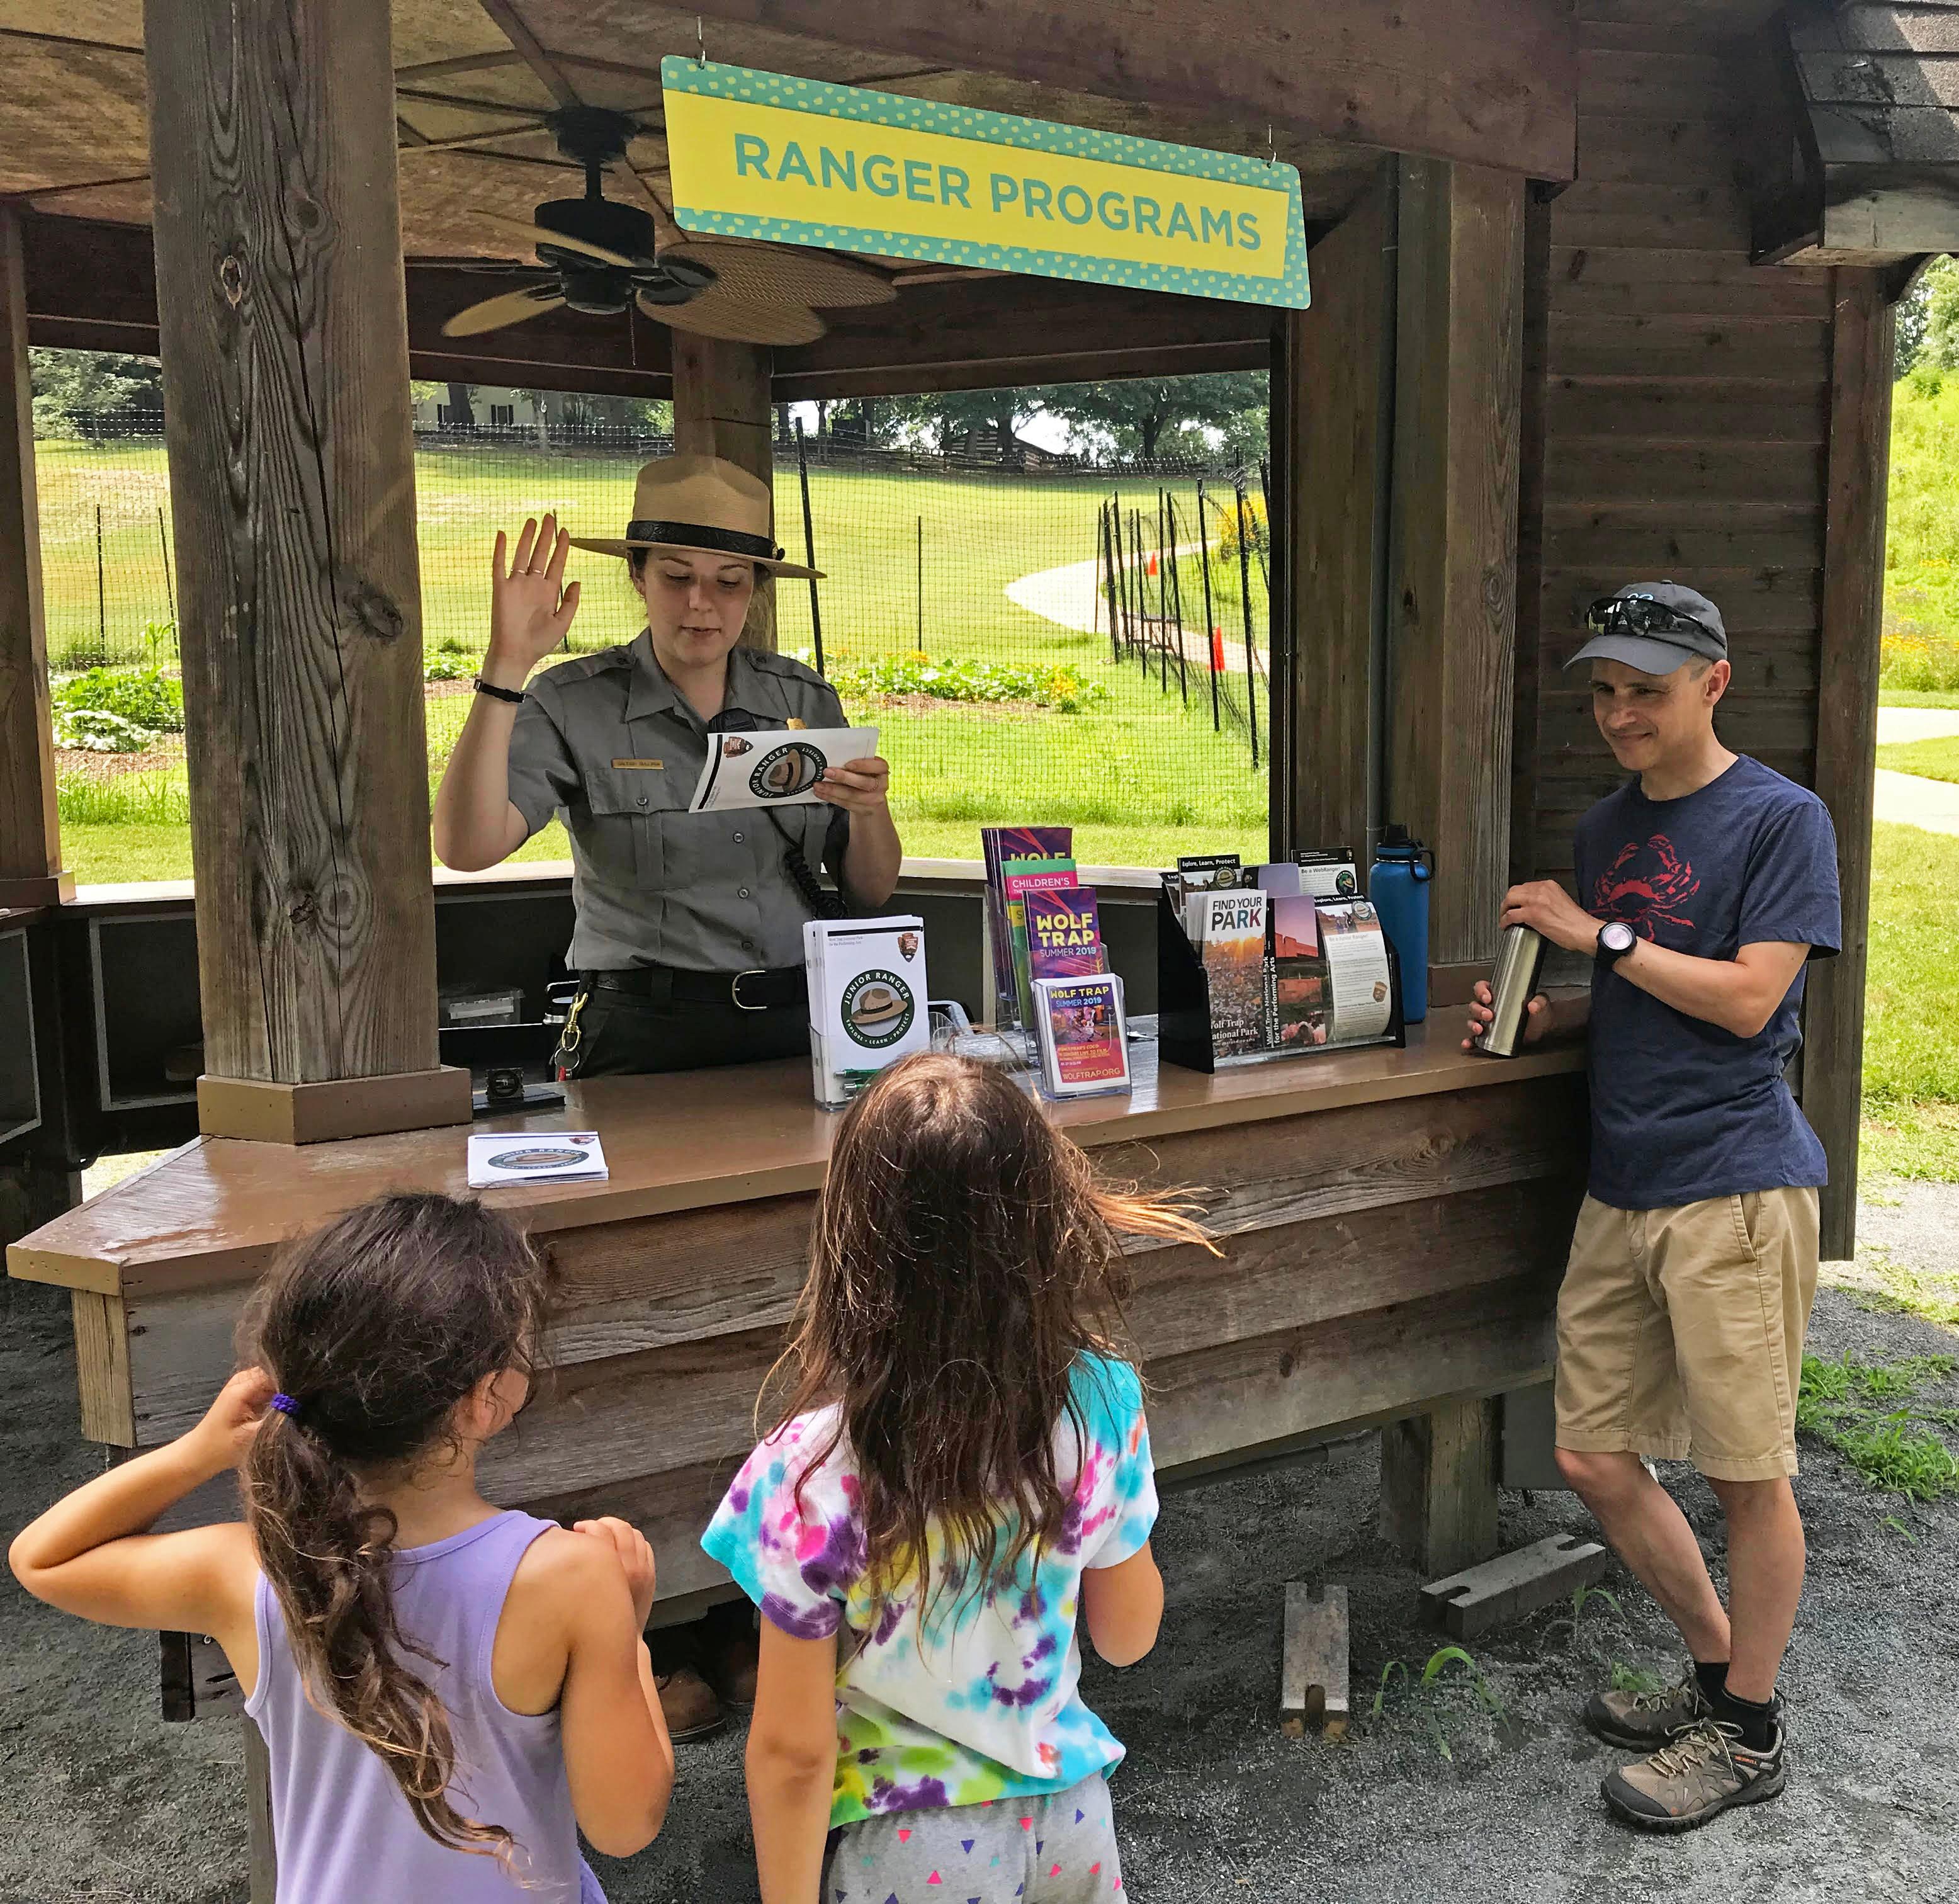
[(1307, 304), (1291, 167), (680, 57), (662, 82), (688, 231)]

